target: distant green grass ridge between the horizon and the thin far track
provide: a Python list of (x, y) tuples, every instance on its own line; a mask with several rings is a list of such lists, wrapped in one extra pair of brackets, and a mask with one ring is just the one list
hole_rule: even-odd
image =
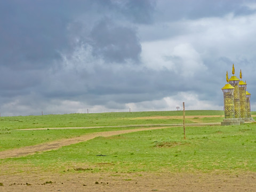
[[(187, 110), (189, 115), (223, 115), (221, 110)], [(29, 129), (44, 127), (81, 127), (81, 126), (114, 126), (131, 124), (170, 124), (182, 123), (181, 119), (134, 119), (136, 117), (152, 116), (182, 116), (183, 111), (142, 111), (115, 112), (95, 114), (65, 114), (41, 116), (0, 117), (2, 128)], [(189, 122), (188, 122), (189, 123)]]

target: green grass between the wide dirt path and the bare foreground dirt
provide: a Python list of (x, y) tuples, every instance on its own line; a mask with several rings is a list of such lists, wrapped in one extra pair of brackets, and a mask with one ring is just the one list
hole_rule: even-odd
[(171, 127), (98, 137), (42, 154), (4, 159), (1, 163), (29, 162), (33, 167), (57, 172), (76, 166), (90, 167), (93, 172), (255, 172), (255, 133), (255, 124), (189, 127), (184, 140), (182, 129)]

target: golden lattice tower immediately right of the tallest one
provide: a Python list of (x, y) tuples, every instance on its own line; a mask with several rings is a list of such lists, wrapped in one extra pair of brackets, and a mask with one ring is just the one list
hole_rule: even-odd
[(239, 87), (239, 97), (240, 97), (240, 112), (241, 117), (244, 121), (248, 121), (247, 119), (247, 102), (246, 102), (246, 83), (242, 81), (242, 70), (240, 70), (240, 78), (238, 87)]

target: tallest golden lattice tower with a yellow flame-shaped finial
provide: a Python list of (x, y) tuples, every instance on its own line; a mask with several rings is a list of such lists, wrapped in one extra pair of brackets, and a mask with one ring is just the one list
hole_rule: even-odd
[(240, 97), (239, 97), (239, 88), (238, 88), (238, 84), (239, 84), (240, 79), (238, 79), (235, 76), (234, 64), (233, 64), (233, 68), (232, 68), (232, 74), (233, 74), (233, 76), (230, 77), (229, 84), (235, 87), (235, 91), (234, 91), (235, 118), (241, 118)]

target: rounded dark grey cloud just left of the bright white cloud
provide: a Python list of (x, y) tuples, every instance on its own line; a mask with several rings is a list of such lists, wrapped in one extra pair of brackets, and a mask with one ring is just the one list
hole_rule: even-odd
[(135, 30), (101, 20), (91, 31), (93, 54), (110, 62), (139, 61), (141, 45)]

